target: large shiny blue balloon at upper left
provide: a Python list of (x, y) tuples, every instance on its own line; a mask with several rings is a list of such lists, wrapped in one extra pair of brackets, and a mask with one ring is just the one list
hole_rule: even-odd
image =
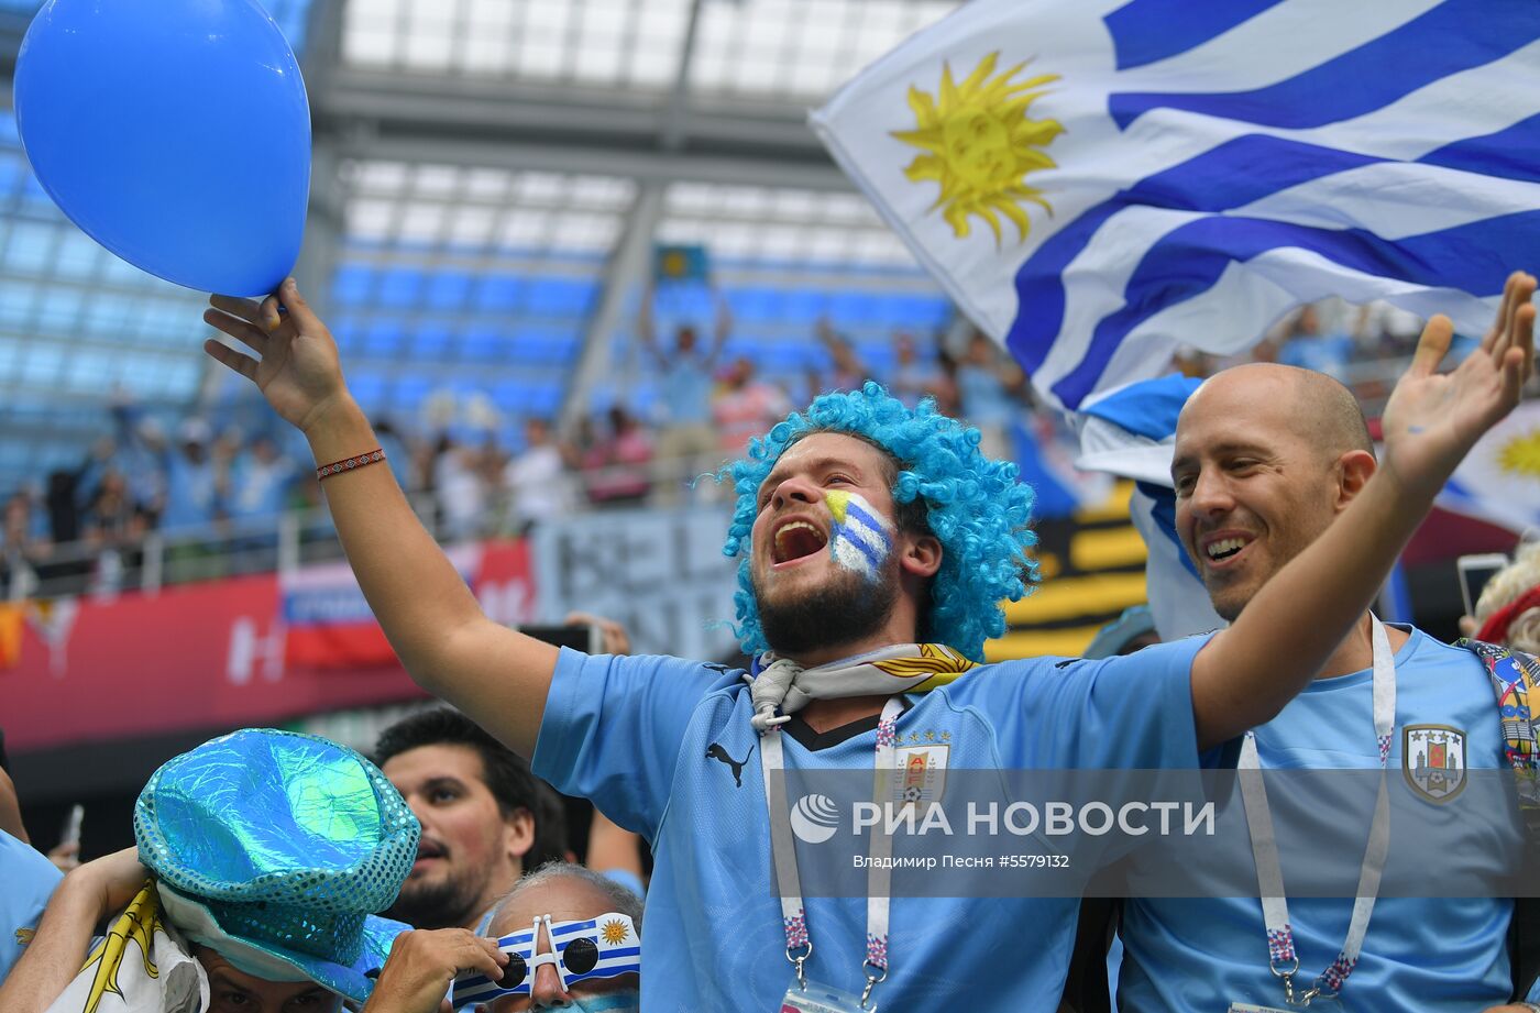
[(49, 0), (15, 65), (49, 197), (129, 263), (199, 291), (274, 291), (299, 257), (310, 102), (256, 0)]

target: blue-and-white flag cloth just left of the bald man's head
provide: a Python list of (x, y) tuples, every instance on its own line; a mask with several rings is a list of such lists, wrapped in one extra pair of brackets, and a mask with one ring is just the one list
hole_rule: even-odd
[(1086, 402), (1076, 417), (1081, 454), (1075, 466), (1135, 480), (1129, 516), (1149, 550), (1144, 593), (1161, 640), (1226, 625), (1177, 537), (1170, 485), (1177, 416), (1198, 383), (1184, 376), (1129, 383)]

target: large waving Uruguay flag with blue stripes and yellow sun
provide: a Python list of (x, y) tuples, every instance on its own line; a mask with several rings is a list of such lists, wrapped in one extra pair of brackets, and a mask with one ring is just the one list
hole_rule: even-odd
[(1300, 302), (1480, 334), (1540, 248), (1534, 0), (973, 0), (812, 117), (1050, 402)]

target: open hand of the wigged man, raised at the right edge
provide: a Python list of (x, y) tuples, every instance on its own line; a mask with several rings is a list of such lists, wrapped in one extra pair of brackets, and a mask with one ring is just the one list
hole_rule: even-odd
[(1411, 368), (1384, 408), (1384, 460), (1408, 490), (1432, 497), (1471, 446), (1518, 403), (1534, 371), (1535, 279), (1514, 272), (1481, 346), (1440, 374), (1454, 326), (1435, 316), (1417, 342)]

